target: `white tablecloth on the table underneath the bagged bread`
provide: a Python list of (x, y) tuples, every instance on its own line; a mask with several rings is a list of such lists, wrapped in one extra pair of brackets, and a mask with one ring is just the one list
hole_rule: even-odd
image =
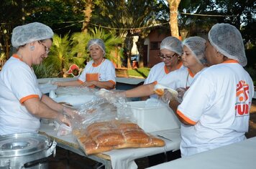
[[(54, 127), (52, 127), (50, 125), (41, 124), (40, 132), (45, 132), (47, 135), (50, 135), (52, 137), (56, 137), (60, 140), (64, 140), (65, 142), (78, 145), (76, 138), (73, 135), (58, 136), (57, 131), (55, 131), (53, 129), (54, 129)], [(180, 138), (180, 129), (152, 132), (152, 135), (162, 135), (162, 133), (163, 133), (163, 137), (168, 138), (168, 139), (163, 138), (163, 140), (165, 140), (165, 147), (161, 147), (161, 148), (127, 148), (127, 149), (122, 149), (122, 150), (111, 150), (111, 151), (105, 152), (103, 154), (110, 156), (111, 167), (113, 169), (137, 168), (137, 165), (134, 162), (135, 159), (147, 157), (149, 155), (155, 155), (158, 153), (164, 153), (165, 151), (179, 150), (180, 139), (181, 139)], [(166, 133), (168, 133), (168, 135), (166, 135)], [(69, 145), (66, 145), (66, 146), (68, 148)], [(69, 150), (72, 150), (72, 149), (69, 149)], [(74, 151), (74, 152), (76, 153), (77, 151)]]

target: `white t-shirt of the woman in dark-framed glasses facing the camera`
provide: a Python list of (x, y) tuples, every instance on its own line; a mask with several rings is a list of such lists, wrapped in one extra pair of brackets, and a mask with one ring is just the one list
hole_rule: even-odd
[[(183, 64), (180, 63), (180, 67), (178, 69), (182, 69), (182, 68), (183, 68)], [(168, 72), (168, 69), (165, 66), (165, 62), (160, 62), (158, 64), (155, 64), (155, 66), (150, 69), (150, 73), (148, 74), (147, 79), (145, 79), (144, 84), (158, 82), (161, 79), (163, 79), (163, 77), (165, 77), (167, 74), (170, 74), (170, 72)], [(151, 95), (150, 97), (156, 98), (157, 95)]]

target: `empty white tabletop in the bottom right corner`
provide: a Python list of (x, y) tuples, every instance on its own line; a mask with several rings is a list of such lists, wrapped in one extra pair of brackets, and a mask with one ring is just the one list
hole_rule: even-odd
[(255, 169), (256, 137), (239, 143), (209, 150), (168, 163), (155, 165), (150, 169)]

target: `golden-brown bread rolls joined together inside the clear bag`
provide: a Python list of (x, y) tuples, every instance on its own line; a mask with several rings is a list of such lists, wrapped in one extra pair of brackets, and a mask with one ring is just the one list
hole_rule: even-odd
[(93, 122), (86, 130), (74, 130), (87, 155), (122, 148), (162, 147), (165, 142), (146, 133), (137, 124), (121, 120)]

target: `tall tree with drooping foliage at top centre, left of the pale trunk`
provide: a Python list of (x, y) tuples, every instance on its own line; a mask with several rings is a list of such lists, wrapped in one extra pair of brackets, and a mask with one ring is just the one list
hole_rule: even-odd
[[(132, 37), (137, 35), (143, 39), (149, 33), (149, 27), (157, 24), (163, 2), (157, 0), (104, 1), (96, 4), (91, 22), (102, 25), (106, 29), (115, 29), (119, 37), (124, 38), (127, 67), (131, 68)], [(139, 40), (141, 43), (142, 41)], [(142, 47), (142, 45), (137, 45)], [(142, 49), (139, 49), (142, 51)], [(143, 57), (140, 56), (140, 62)], [(143, 66), (143, 63), (140, 64)]]

